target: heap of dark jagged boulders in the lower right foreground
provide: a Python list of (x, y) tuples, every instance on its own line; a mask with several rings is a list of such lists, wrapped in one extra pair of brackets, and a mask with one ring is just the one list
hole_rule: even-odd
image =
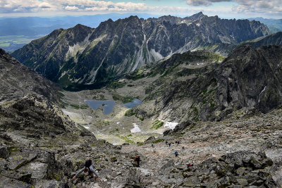
[(184, 172), (192, 175), (185, 178), (188, 187), (276, 187), (269, 170), (273, 162), (265, 153), (238, 151), (221, 156), (219, 160), (210, 158)]

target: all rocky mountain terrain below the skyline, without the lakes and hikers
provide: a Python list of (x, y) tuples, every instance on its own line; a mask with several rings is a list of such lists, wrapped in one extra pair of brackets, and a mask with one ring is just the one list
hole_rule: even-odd
[[(259, 21), (76, 25), (0, 49), (0, 77), (0, 187), (282, 187), (282, 32)], [(73, 180), (88, 158), (99, 180)]]

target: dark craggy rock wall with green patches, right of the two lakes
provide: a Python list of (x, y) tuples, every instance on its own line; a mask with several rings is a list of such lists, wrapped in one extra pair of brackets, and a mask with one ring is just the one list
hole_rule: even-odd
[(156, 80), (145, 89), (147, 104), (131, 111), (140, 118), (158, 114), (180, 121), (221, 120), (239, 111), (266, 113), (282, 104), (281, 58), (281, 46), (238, 46), (223, 61), (207, 51), (175, 54), (140, 72), (139, 78)]

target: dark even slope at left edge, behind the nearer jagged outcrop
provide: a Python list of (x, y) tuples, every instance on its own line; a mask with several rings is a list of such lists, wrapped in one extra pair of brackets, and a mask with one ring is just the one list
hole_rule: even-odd
[(10, 101), (25, 94), (39, 94), (50, 101), (59, 101), (59, 85), (38, 75), (0, 49), (0, 101)]

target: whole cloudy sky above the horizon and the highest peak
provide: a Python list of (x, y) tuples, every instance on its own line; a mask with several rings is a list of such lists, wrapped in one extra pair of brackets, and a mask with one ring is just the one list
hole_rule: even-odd
[(282, 0), (0, 0), (0, 17), (149, 13), (282, 19)]

